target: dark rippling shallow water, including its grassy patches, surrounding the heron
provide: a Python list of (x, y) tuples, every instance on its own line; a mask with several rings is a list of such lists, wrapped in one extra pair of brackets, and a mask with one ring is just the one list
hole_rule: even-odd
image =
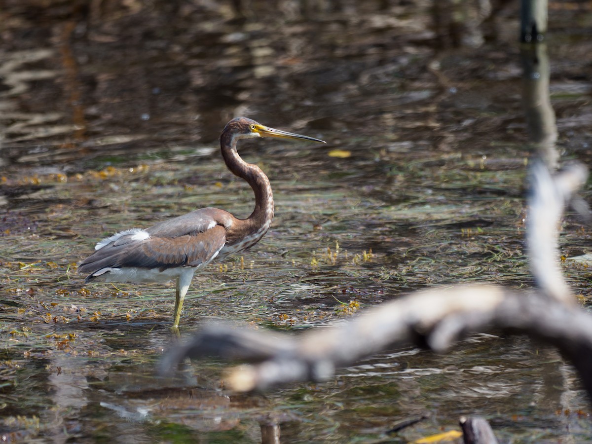
[[(215, 360), (155, 378), (172, 340), (172, 285), (83, 284), (75, 264), (117, 230), (210, 205), (252, 211), (217, 147), (224, 124), (247, 115), (328, 144), (240, 145), (271, 179), (274, 224), (242, 258), (194, 278), (184, 336), (210, 317), (297, 332), (347, 320), (352, 301), (363, 310), (434, 285), (532, 285), (517, 9), (453, 47), (427, 2), (298, 5), (0, 11), (2, 434), (259, 442), (279, 424), (284, 442), (405, 442), (480, 414), (503, 442), (588, 440), (574, 372), (523, 338), (480, 335), (445, 356), (391, 350), (323, 384), (236, 395)], [(552, 8), (560, 159), (590, 164), (592, 14)], [(561, 229), (563, 255), (590, 250), (577, 217)], [(590, 272), (563, 266), (587, 307)]]

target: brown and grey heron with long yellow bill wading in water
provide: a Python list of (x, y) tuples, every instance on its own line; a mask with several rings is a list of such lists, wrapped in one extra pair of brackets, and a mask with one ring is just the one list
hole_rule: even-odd
[(95, 252), (82, 261), (78, 270), (90, 273), (85, 282), (167, 282), (176, 279), (175, 317), (179, 317), (187, 289), (195, 271), (214, 259), (253, 246), (269, 229), (274, 218), (274, 196), (263, 171), (244, 162), (236, 150), (239, 139), (282, 137), (326, 143), (266, 127), (254, 120), (237, 117), (220, 136), (222, 157), (227, 168), (247, 181), (255, 192), (255, 210), (246, 219), (218, 208), (200, 210), (162, 221), (147, 228), (133, 228), (107, 237)]

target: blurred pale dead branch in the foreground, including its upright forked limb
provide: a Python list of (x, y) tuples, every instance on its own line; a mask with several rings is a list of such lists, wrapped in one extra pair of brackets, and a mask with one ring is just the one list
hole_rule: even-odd
[(557, 228), (571, 195), (587, 170), (573, 165), (551, 177), (532, 168), (529, 256), (538, 289), (514, 291), (498, 285), (456, 285), (420, 291), (366, 310), (339, 327), (294, 336), (209, 324), (161, 363), (173, 371), (186, 356), (215, 355), (252, 362), (231, 369), (227, 384), (237, 391), (263, 390), (294, 381), (321, 381), (337, 367), (395, 346), (444, 352), (467, 334), (501, 329), (555, 345), (577, 368), (592, 397), (592, 316), (571, 303), (561, 275)]

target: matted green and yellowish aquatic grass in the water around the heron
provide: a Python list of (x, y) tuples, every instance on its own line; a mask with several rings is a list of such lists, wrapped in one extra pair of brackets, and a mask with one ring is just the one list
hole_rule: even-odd
[[(315, 182), (307, 176), (303, 178), (307, 185), (295, 188), (294, 182), (272, 178), (277, 184), (274, 226), (252, 252), (195, 276), (181, 319), (184, 334), (199, 328), (205, 318), (281, 330), (339, 323), (361, 308), (432, 285), (530, 285), (522, 246), (523, 202), (496, 191), (509, 184), (514, 189), (510, 194), (519, 194), (523, 172), (462, 174), (442, 169), (430, 176), (420, 166), (417, 163), (406, 170), (402, 193), (392, 184), (377, 187), (362, 177), (349, 176), (348, 181), (361, 181), (359, 187), (365, 190), (356, 197), (344, 184), (324, 182), (322, 177)], [(220, 166), (213, 171), (200, 168), (208, 176), (222, 171)], [(156, 430), (163, 439), (185, 439), (194, 436), (195, 427), (208, 430), (220, 424), (233, 432), (212, 429), (211, 433), (221, 433), (216, 436), (226, 439), (242, 434), (241, 427), (257, 427), (262, 415), (285, 409), (297, 412), (298, 420), (314, 424), (317, 438), (333, 440), (350, 411), (368, 416), (360, 426), (370, 416), (384, 417), (378, 420), (382, 423), (396, 414), (397, 409), (379, 401), (386, 391), (408, 397), (397, 378), (420, 381), (426, 377), (426, 371), (417, 370), (410, 376), (398, 369), (398, 358), (372, 365), (366, 378), (375, 375), (388, 382), (376, 387), (372, 382), (369, 387), (374, 388), (366, 394), (359, 394), (359, 381), (350, 378), (352, 374), (362, 377), (363, 372), (350, 369), (336, 381), (319, 386), (322, 389), (314, 385), (288, 389), (281, 398), (272, 397), (267, 407), (252, 410), (244, 407), (244, 401), (234, 408), (220, 405), (215, 414), (224, 419), (218, 426), (212, 425), (208, 408), (195, 408), (195, 393), (191, 395), (193, 407), (188, 408), (186, 395), (170, 398), (170, 392), (163, 391), (161, 384), (170, 382), (155, 382), (152, 369), (163, 346), (173, 340), (168, 332), (173, 284), (85, 285), (76, 263), (101, 237), (130, 226), (149, 226), (201, 206), (198, 202), (249, 214), (252, 197), (243, 185), (213, 183), (197, 190), (177, 179), (184, 176), (189, 176), (189, 167), (182, 164), (146, 165), (133, 172), (128, 166), (110, 168), (76, 176), (75, 181), (62, 180), (12, 210), (20, 215), (14, 220), (27, 220), (30, 229), (7, 227), (0, 247), (4, 276), (0, 391), (6, 396), (4, 410), (9, 415), (5, 430), (25, 437), (50, 433), (60, 422), (44, 413), (48, 404), (62, 406), (54, 407), (58, 411), (78, 411), (80, 417), (67, 419), (67, 424), (94, 421), (97, 401), (103, 406), (101, 417), (115, 423), (138, 417), (140, 410), (149, 411), (137, 427), (144, 430), (141, 433)], [(55, 178), (38, 177), (37, 183), (44, 185), (46, 180)], [(445, 185), (436, 187), (438, 181)], [(496, 185), (484, 185), (491, 181)], [(432, 191), (426, 193), (426, 189)], [(474, 197), (475, 189), (482, 194)], [(41, 211), (35, 200), (49, 197), (59, 197), (61, 203)], [(79, 202), (85, 203), (80, 207)], [(587, 233), (570, 222), (570, 233), (574, 229)], [(575, 236), (567, 239), (568, 244), (577, 244)], [(570, 281), (587, 294), (589, 274), (578, 274)], [(416, 365), (426, 368), (423, 363)], [(191, 379), (189, 385), (221, 387), (220, 363), (206, 360), (198, 366), (198, 379)], [(45, 381), (55, 394), (48, 399), (38, 393), (30, 404), (18, 404), (20, 381), (31, 371), (27, 378)], [(391, 374), (396, 378), (390, 379)], [(191, 372), (186, 376), (195, 378)], [(65, 387), (75, 387), (76, 394), (67, 395)], [(149, 390), (150, 398), (134, 401), (134, 394)], [(332, 392), (329, 403), (323, 401), (327, 390)], [(356, 397), (363, 403), (357, 407), (350, 404)], [(170, 407), (155, 410), (155, 405), (163, 403)], [(381, 434), (368, 432), (367, 436)]]

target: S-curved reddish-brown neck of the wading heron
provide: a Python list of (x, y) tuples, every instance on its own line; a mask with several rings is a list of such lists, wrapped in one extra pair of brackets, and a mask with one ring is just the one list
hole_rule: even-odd
[(229, 133), (220, 136), (222, 157), (227, 168), (236, 176), (244, 179), (255, 193), (255, 210), (245, 219), (249, 223), (250, 230), (263, 230), (261, 235), (269, 228), (274, 218), (274, 194), (271, 191), (269, 179), (263, 171), (252, 163), (244, 162), (236, 151), (236, 138)]

